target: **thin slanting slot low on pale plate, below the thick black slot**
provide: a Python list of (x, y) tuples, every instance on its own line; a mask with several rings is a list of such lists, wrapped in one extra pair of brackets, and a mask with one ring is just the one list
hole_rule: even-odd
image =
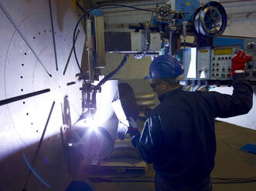
[[(53, 112), (53, 107), (54, 107), (54, 105), (55, 105), (55, 102), (53, 101), (53, 105), (52, 105), (52, 107), (51, 107), (51, 109), (50, 109), (50, 111), (49, 111), (49, 116), (48, 116), (48, 118), (47, 118), (47, 121), (46, 121), (46, 126), (44, 127), (44, 129), (43, 129), (43, 133), (42, 133), (42, 136), (41, 136), (41, 139), (40, 139), (40, 141), (39, 141), (39, 144), (38, 144), (38, 146), (37, 146), (37, 148), (36, 148), (36, 153), (35, 153), (35, 155), (33, 156), (33, 159), (32, 159), (32, 164), (31, 164), (31, 166), (35, 166), (35, 163), (36, 163), (36, 158), (37, 158), (37, 156), (38, 156), (38, 153), (39, 153), (39, 149), (41, 148), (41, 145), (42, 145), (42, 142), (43, 142), (43, 137), (44, 137), (44, 135), (45, 135), (45, 133), (46, 133), (46, 129), (47, 129), (47, 126), (48, 126), (48, 123), (49, 123), (49, 119), (50, 119), (50, 117), (52, 116), (52, 112)], [(29, 168), (30, 169), (30, 168)], [(25, 186), (24, 186), (24, 189), (26, 190), (26, 186), (27, 186), (27, 184), (29, 183), (29, 178), (30, 178), (30, 176), (31, 176), (31, 169), (29, 170), (29, 174), (28, 174), (28, 176), (27, 176), (27, 178), (26, 178), (26, 182), (25, 182)], [(33, 172), (32, 172), (33, 173)], [(37, 176), (36, 176), (37, 177)], [(41, 180), (41, 179), (40, 179)]]

